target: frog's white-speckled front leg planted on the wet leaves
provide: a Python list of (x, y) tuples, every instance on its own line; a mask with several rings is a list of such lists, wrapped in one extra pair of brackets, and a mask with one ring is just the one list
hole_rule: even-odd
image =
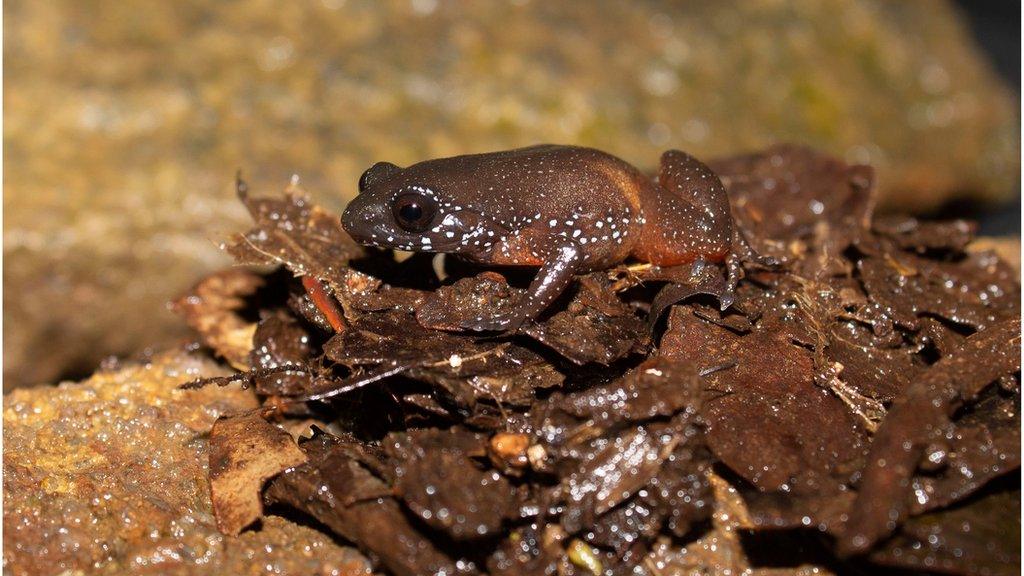
[(559, 294), (565, 291), (583, 261), (581, 247), (573, 242), (562, 240), (563, 243), (549, 249), (526, 294), (516, 302), (511, 312), (490, 318), (477, 317), (463, 324), (463, 328), (514, 333), (523, 322), (540, 316)]

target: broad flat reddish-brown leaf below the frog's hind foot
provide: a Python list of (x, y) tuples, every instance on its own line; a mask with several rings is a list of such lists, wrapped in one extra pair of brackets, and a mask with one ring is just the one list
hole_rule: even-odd
[(862, 456), (865, 430), (815, 385), (808, 351), (762, 331), (738, 336), (677, 306), (659, 354), (700, 369), (725, 367), (708, 376), (718, 395), (701, 412), (708, 443), (759, 489), (836, 492)]

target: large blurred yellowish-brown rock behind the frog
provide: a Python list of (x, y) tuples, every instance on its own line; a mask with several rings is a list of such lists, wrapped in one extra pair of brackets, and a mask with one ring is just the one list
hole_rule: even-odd
[[(228, 263), (215, 243), (247, 224), (237, 168), (263, 193), (298, 173), (340, 209), (382, 159), (556, 141), (651, 167), (670, 147), (788, 140), (877, 166), (886, 209), (998, 212), (1019, 198), (1020, 29), (1008, 84), (969, 26), (1019, 13), (969, 23), (939, 0), (8, 1), (4, 387), (182, 337), (165, 302)], [(1019, 232), (1016, 212), (1000, 221)]]

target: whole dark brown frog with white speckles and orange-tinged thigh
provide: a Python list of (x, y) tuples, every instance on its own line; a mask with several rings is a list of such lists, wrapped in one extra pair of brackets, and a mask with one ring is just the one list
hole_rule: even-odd
[(656, 180), (603, 152), (556, 145), (408, 168), (379, 162), (359, 179), (342, 225), (370, 246), (540, 266), (512, 314), (477, 318), (465, 326), (471, 330), (514, 331), (544, 312), (574, 275), (631, 256), (666, 266), (726, 262), (723, 307), (739, 271), (725, 188), (679, 151), (662, 156)]

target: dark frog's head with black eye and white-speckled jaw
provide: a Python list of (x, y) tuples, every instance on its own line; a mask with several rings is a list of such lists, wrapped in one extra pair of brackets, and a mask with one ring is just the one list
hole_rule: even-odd
[[(416, 252), (486, 250), (509, 231), (467, 202), (476, 190), (445, 160), (399, 168), (378, 162), (359, 178), (359, 195), (345, 208), (342, 227), (368, 246)], [(467, 194), (468, 193), (468, 194)]]

